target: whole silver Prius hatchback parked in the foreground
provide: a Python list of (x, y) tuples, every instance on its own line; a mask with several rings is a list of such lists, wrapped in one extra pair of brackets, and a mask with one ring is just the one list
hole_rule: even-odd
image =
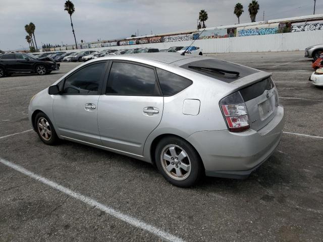
[(65, 139), (150, 162), (180, 187), (204, 174), (247, 177), (275, 151), (283, 117), (270, 73), (167, 52), (93, 59), (29, 105), (45, 144)]

